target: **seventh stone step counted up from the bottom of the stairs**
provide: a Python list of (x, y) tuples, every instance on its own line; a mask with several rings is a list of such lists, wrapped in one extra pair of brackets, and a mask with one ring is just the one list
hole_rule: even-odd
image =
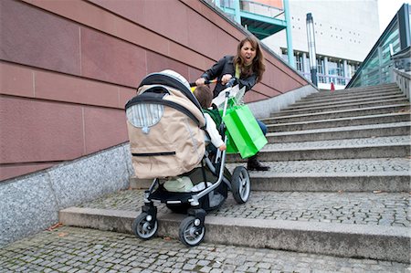
[(288, 108), (285, 110), (304, 110), (304, 109), (311, 109), (311, 108), (316, 108), (316, 107), (334, 107), (337, 108), (339, 106), (345, 106), (347, 104), (357, 104), (357, 103), (373, 103), (377, 101), (390, 101), (390, 100), (406, 100), (406, 96), (404, 94), (399, 94), (399, 95), (391, 95), (391, 96), (380, 96), (378, 98), (362, 98), (362, 99), (351, 99), (351, 100), (324, 100), (324, 101), (310, 101), (310, 102), (304, 102), (304, 103), (294, 103), (290, 105)]

